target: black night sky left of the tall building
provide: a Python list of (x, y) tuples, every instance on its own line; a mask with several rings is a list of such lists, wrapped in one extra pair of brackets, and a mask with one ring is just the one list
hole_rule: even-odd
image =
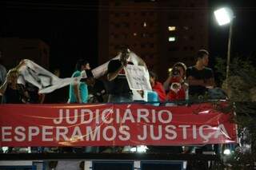
[[(0, 33), (4, 37), (40, 38), (50, 45), (50, 69), (70, 77), (79, 58), (97, 65), (98, 3), (7, 1)], [(3, 8), (3, 6), (2, 6)]]

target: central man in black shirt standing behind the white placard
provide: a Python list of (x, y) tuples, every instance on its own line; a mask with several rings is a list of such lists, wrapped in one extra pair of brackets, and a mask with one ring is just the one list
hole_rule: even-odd
[(111, 60), (107, 68), (107, 80), (110, 81), (108, 102), (130, 102), (133, 101), (132, 91), (126, 79), (124, 67), (132, 64), (128, 60), (129, 49), (122, 49), (121, 57)]

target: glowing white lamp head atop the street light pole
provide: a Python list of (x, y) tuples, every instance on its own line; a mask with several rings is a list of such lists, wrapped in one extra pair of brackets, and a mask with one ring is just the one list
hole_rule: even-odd
[(234, 18), (233, 12), (229, 8), (221, 8), (219, 10), (215, 10), (214, 16), (219, 26), (230, 23), (231, 20)]

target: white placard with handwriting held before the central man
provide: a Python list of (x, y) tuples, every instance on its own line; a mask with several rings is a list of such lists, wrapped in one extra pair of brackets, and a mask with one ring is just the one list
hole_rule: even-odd
[(126, 78), (130, 89), (133, 90), (151, 90), (150, 81), (145, 67), (141, 65), (126, 65)]

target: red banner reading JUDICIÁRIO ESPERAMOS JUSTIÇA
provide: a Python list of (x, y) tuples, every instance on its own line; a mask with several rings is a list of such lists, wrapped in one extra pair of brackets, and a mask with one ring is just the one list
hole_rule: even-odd
[(0, 105), (0, 146), (185, 145), (237, 142), (232, 113), (210, 103)]

